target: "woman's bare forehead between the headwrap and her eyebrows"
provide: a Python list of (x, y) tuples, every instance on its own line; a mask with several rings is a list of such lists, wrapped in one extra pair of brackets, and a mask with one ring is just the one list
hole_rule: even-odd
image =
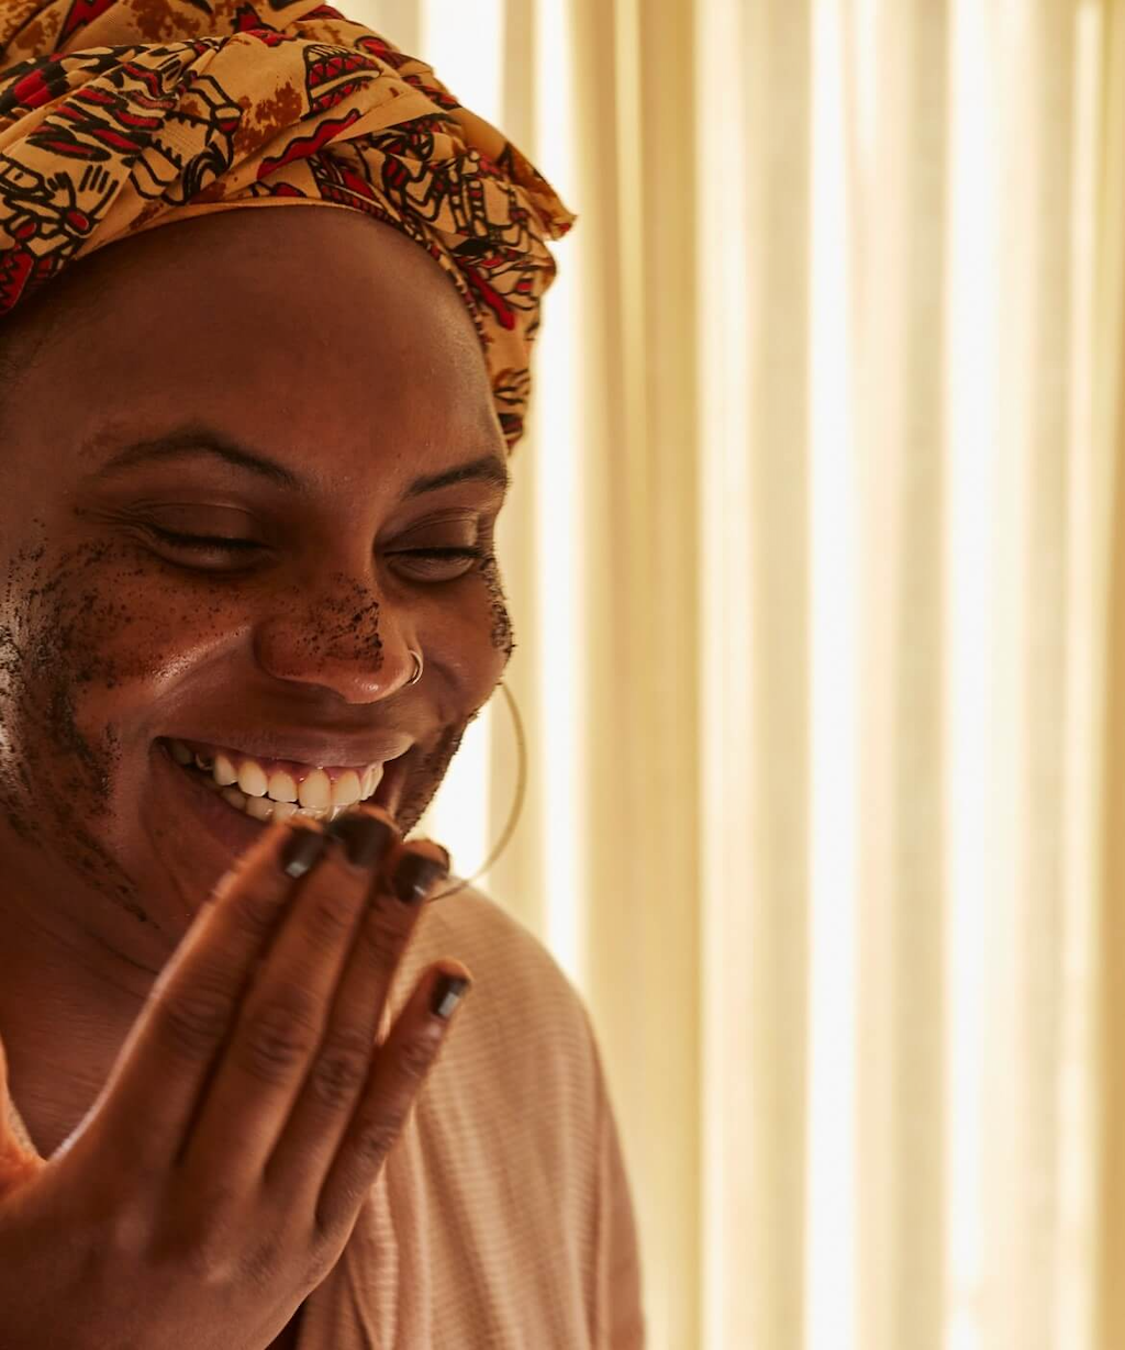
[(504, 456), (452, 284), (357, 212), (209, 215), (109, 246), (54, 285), (50, 336), (9, 408), (50, 444), (108, 451), (107, 427), (205, 414), (325, 470), (351, 452), (415, 466)]

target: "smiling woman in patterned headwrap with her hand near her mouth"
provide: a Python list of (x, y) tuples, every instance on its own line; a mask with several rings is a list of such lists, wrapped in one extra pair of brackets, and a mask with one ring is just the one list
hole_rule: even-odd
[(4, 1347), (639, 1346), (587, 1015), (404, 841), (570, 216), (305, 0), (0, 45)]

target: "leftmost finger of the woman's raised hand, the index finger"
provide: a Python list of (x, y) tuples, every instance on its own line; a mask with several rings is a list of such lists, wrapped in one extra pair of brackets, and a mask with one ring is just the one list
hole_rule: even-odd
[[(76, 1141), (108, 1148), (134, 1177), (163, 1173), (186, 1146), (207, 1079), (294, 886), (286, 846), (320, 830), (274, 825), (227, 873), (157, 979)], [(298, 871), (297, 864), (290, 872)]]

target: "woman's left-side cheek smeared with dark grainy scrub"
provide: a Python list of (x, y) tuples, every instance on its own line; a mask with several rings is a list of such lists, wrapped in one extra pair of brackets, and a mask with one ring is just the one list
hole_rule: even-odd
[[(103, 888), (112, 861), (124, 751), (143, 737), (161, 683), (208, 626), (213, 602), (170, 603), (159, 578), (108, 545), (9, 559), (0, 618), (0, 799), (26, 842), (50, 841)], [(132, 756), (135, 760), (135, 755)], [(119, 817), (120, 819), (120, 817)], [(139, 915), (138, 915), (139, 917)]]

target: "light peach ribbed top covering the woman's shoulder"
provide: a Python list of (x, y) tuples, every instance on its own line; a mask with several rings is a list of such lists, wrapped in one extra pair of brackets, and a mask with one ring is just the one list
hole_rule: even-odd
[(642, 1350), (632, 1200), (582, 1000), (525, 927), (466, 890), (419, 919), (384, 1029), (440, 956), (473, 988), (305, 1303), (300, 1350)]

